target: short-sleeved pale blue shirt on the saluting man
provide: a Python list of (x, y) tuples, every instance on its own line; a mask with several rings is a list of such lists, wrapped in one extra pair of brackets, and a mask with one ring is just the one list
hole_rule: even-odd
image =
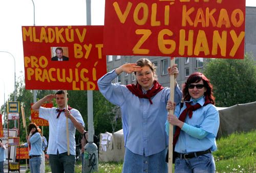
[[(76, 109), (70, 110), (73, 117), (84, 126), (82, 116)], [(52, 108), (39, 108), (39, 117), (48, 120), (49, 122), (49, 145), (47, 149), (47, 154), (56, 155), (57, 150), (59, 154), (68, 152), (67, 145), (67, 130), (66, 130), (66, 116), (65, 112), (61, 112), (60, 116), (57, 118), (58, 112), (56, 107)], [(76, 141), (75, 132), (76, 128), (72, 121), (68, 119), (69, 122), (69, 145), (70, 154), (75, 155)], [(42, 145), (41, 145), (42, 147)]]

